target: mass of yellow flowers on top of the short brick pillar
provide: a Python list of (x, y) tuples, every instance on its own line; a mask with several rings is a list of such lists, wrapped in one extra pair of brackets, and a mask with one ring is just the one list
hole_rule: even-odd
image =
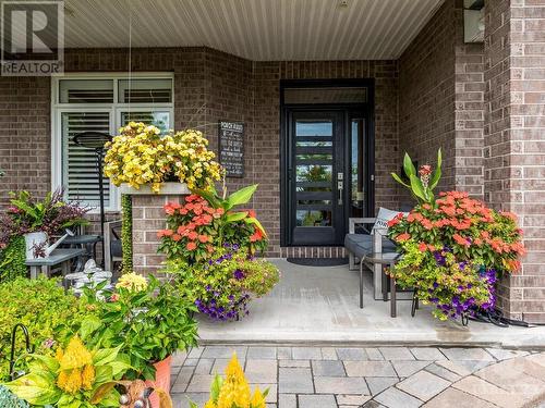
[(106, 144), (104, 170), (117, 186), (126, 184), (133, 190), (149, 186), (157, 194), (167, 182), (208, 188), (220, 178), (220, 165), (213, 160), (215, 154), (207, 149), (208, 140), (198, 131), (161, 135), (158, 127), (131, 122), (120, 132)]

